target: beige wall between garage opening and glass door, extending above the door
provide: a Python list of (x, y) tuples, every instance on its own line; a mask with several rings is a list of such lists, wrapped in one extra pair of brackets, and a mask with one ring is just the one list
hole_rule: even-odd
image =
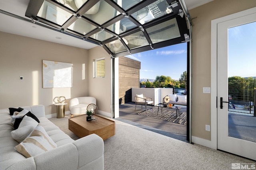
[[(190, 10), (192, 18), (192, 136), (211, 140), (205, 125), (211, 125), (211, 20), (256, 6), (255, 0), (214, 0)], [(213, 101), (214, 102), (214, 101)]]

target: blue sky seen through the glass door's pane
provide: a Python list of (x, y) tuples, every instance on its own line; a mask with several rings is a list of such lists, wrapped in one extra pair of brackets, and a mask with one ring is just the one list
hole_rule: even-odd
[(228, 29), (228, 76), (256, 76), (256, 22)]

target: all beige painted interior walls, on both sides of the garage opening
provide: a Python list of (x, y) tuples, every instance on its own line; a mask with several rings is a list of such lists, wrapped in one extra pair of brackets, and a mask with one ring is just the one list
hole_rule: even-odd
[[(211, 140), (211, 20), (256, 6), (255, 0), (214, 0), (190, 10), (193, 20), (192, 135)], [(100, 111), (111, 113), (111, 59), (102, 47), (90, 50), (0, 32), (0, 109), (43, 104), (46, 114), (56, 113), (56, 96), (93, 96)], [(92, 60), (106, 59), (105, 78), (92, 78)], [(42, 88), (42, 60), (73, 63), (72, 88)], [(86, 78), (82, 80), (82, 64)], [(24, 80), (19, 80), (24, 76)], [(69, 101), (69, 100), (68, 100)], [(67, 101), (67, 102), (68, 102)], [(66, 107), (68, 110), (68, 106)]]

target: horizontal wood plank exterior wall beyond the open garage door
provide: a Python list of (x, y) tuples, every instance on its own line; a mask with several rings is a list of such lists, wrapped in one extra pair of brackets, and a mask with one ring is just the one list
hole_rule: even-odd
[(119, 104), (132, 102), (132, 87), (140, 87), (140, 61), (119, 57)]

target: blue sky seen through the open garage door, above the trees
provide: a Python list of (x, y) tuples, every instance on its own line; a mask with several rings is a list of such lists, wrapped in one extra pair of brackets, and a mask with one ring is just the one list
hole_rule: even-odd
[(130, 59), (140, 61), (140, 78), (156, 79), (156, 76), (170, 76), (179, 80), (187, 70), (187, 43), (171, 45), (127, 55)]

